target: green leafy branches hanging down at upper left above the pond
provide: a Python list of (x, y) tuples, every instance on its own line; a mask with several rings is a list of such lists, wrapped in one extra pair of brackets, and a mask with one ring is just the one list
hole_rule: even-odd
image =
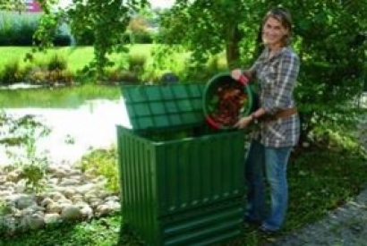
[[(13, 0), (4, 0), (4, 6), (13, 6)], [(16, 0), (16, 3), (21, 3)], [(73, 0), (68, 9), (55, 11), (57, 0), (38, 0), (43, 10), (35, 38), (40, 40), (38, 50), (52, 46), (53, 33), (61, 22), (67, 22), (76, 37), (85, 30), (92, 30), (94, 34), (95, 59), (88, 71), (94, 72), (98, 79), (103, 80), (107, 65), (112, 63), (107, 54), (124, 50), (122, 46), (123, 34), (129, 24), (133, 12), (148, 4), (147, 0)]]

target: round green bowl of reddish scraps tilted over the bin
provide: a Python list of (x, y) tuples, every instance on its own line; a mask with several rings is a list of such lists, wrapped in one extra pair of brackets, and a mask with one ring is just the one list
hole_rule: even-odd
[[(234, 89), (236, 89), (236, 98), (245, 97), (242, 106), (238, 106), (235, 100), (230, 100), (233, 97), (225, 99), (223, 96), (225, 90), (234, 92)], [(229, 95), (228, 92), (226, 92), (226, 95)], [(219, 73), (207, 82), (202, 100), (205, 119), (214, 129), (233, 129), (240, 117), (252, 113), (253, 97), (251, 87), (244, 80), (235, 81), (229, 72)]]

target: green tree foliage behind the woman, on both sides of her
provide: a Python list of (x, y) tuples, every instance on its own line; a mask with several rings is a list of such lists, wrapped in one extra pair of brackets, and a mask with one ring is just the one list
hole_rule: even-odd
[(162, 15), (161, 39), (192, 51), (193, 65), (226, 51), (228, 68), (247, 67), (261, 47), (261, 18), (278, 5), (293, 15), (294, 49), (302, 59), (296, 95), (303, 135), (321, 124), (353, 122), (350, 104), (366, 74), (366, 0), (176, 0)]

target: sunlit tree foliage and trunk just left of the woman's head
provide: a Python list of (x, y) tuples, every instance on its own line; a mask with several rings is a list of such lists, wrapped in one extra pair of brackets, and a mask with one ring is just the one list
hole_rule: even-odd
[(161, 17), (164, 40), (166, 44), (180, 44), (192, 51), (195, 64), (203, 64), (210, 55), (226, 49), (227, 64), (233, 66), (239, 61), (239, 43), (245, 37), (241, 29), (247, 9), (245, 2), (177, 0)]

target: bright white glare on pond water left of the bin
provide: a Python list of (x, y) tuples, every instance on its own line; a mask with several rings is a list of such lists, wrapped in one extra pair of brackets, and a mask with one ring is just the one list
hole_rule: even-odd
[[(116, 144), (117, 124), (131, 127), (123, 98), (111, 101), (90, 100), (78, 108), (12, 108), (5, 112), (15, 117), (37, 115), (51, 133), (38, 140), (38, 150), (49, 152), (54, 163), (73, 163), (90, 148), (109, 148)], [(10, 163), (0, 146), (0, 164)]]

